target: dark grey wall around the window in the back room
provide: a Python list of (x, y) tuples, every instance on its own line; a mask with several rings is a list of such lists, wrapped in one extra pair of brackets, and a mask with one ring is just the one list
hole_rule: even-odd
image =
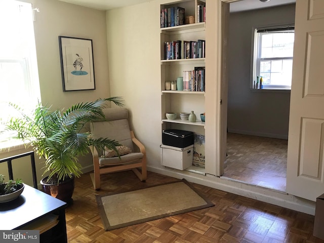
[(230, 14), (229, 132), (288, 138), (290, 92), (252, 92), (251, 43), (253, 27), (292, 24), (295, 4)]

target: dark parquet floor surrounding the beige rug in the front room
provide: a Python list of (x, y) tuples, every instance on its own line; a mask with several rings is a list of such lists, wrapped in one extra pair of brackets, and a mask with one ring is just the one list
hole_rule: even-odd
[(103, 175), (95, 191), (89, 174), (75, 181), (73, 204), (66, 209), (68, 242), (217, 243), (324, 242), (312, 235), (314, 217), (261, 201), (193, 184), (215, 207), (105, 231), (95, 195), (165, 183), (172, 177), (148, 172), (140, 182), (131, 171)]

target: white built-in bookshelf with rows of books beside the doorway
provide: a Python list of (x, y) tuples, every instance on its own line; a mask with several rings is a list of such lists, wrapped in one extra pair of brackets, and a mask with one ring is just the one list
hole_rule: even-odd
[[(166, 20), (169, 13), (174, 18), (170, 23)], [(200, 119), (205, 112), (206, 48), (208, 51), (205, 13), (206, 1), (183, 0), (160, 5), (161, 130), (179, 129), (205, 136), (205, 122)], [(178, 77), (183, 78), (181, 89), (166, 90), (166, 82), (175, 82)], [(180, 119), (181, 112), (191, 111), (196, 122)], [(177, 113), (177, 118), (167, 119), (169, 112)], [(198, 152), (205, 157), (204, 149)]]

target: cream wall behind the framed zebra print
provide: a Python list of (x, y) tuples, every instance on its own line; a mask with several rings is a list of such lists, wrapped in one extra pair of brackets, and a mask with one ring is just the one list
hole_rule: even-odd
[[(106, 12), (54, 0), (25, 0), (38, 8), (34, 22), (35, 42), (38, 62), (39, 83), (42, 102), (53, 108), (69, 107), (76, 102), (110, 97), (109, 73), (106, 39)], [(63, 92), (58, 36), (72, 36), (93, 40), (96, 90)], [(0, 151), (0, 158), (30, 151), (23, 146), (10, 152)], [(36, 156), (37, 157), (37, 156)], [(40, 180), (44, 159), (36, 161), (37, 179)], [(92, 168), (91, 156), (80, 159), (87, 170)], [(31, 171), (28, 159), (18, 162), (14, 176), (27, 178), (31, 182)], [(5, 164), (0, 165), (0, 173), (7, 172)], [(17, 173), (17, 174), (15, 174)], [(27, 174), (27, 176), (26, 176)], [(24, 179), (25, 180), (25, 179)], [(32, 185), (32, 184), (31, 184)]]

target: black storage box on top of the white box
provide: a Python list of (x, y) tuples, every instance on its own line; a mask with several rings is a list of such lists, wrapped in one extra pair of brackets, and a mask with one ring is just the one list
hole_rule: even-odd
[(185, 148), (194, 143), (193, 132), (169, 129), (162, 132), (162, 143), (177, 148)]

